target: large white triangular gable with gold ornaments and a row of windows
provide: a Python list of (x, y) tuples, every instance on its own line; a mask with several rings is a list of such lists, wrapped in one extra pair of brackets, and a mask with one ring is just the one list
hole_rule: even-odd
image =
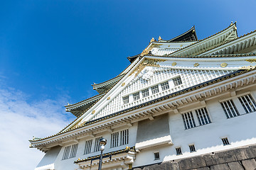
[[(137, 106), (144, 101), (153, 100), (164, 94), (169, 94), (171, 91), (178, 91), (189, 86), (200, 84), (210, 79), (221, 77), (230, 72), (235, 72), (242, 66), (250, 65), (245, 59), (250, 57), (235, 57), (230, 60), (230, 57), (143, 57), (127, 74), (110, 90), (100, 101), (86, 111), (78, 120), (65, 130), (73, 128), (74, 125), (82, 125), (90, 120), (101, 118), (105, 115), (121, 111), (125, 108)], [(242, 61), (242, 62), (241, 62)], [(150, 83), (145, 83), (147, 77), (150, 77)], [(183, 84), (181, 86), (173, 86), (174, 79), (181, 77)], [(154, 94), (154, 97), (142, 99), (141, 101), (132, 101), (132, 103), (123, 103), (123, 97), (131, 96), (136, 93), (142, 93), (142, 90), (151, 88), (156, 84), (169, 81), (170, 89), (161, 91), (159, 94)], [(172, 82), (172, 85), (171, 85)], [(159, 86), (161, 88), (161, 86)]]

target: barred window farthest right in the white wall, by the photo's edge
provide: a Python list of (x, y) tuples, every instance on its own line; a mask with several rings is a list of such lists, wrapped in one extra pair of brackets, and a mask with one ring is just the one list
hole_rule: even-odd
[(245, 96), (238, 97), (240, 103), (242, 104), (242, 107), (245, 109), (246, 113), (252, 113), (256, 111), (256, 103), (255, 100), (252, 98), (250, 94), (247, 94)]

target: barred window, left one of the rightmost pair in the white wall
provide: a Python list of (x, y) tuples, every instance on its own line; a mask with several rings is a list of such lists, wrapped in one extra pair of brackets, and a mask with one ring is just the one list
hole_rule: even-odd
[(238, 109), (235, 107), (233, 100), (223, 101), (220, 105), (222, 106), (227, 118), (233, 118), (239, 115)]

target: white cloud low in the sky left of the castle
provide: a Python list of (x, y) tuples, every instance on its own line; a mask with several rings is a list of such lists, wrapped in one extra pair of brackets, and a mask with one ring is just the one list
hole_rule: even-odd
[(65, 113), (64, 101), (28, 102), (21, 91), (0, 89), (0, 169), (36, 168), (44, 154), (29, 148), (28, 140), (53, 135), (74, 119)]

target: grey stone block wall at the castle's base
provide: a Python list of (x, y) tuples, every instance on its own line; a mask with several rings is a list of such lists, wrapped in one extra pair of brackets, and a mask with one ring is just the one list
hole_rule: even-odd
[(204, 154), (175, 162), (162, 162), (133, 168), (134, 170), (255, 170), (256, 145)]

